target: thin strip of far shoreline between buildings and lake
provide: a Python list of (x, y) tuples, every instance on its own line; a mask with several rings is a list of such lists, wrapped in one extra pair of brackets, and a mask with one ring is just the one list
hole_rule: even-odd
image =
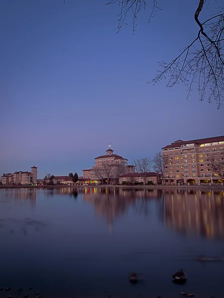
[(0, 185), (0, 189), (5, 188), (33, 188), (33, 189), (53, 189), (53, 188), (91, 188), (91, 187), (109, 187), (109, 188), (142, 188), (142, 189), (221, 189), (224, 190), (224, 185), (212, 184), (212, 185), (41, 185), (41, 186), (31, 186), (31, 185)]

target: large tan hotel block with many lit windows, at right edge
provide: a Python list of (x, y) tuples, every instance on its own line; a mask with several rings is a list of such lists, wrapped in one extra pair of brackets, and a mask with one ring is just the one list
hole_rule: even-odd
[(211, 167), (212, 158), (224, 167), (224, 136), (199, 140), (177, 140), (162, 148), (164, 184), (223, 182)]

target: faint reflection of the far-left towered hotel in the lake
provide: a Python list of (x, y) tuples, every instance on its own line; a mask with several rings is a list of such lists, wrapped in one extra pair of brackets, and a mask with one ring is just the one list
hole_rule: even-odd
[(1, 200), (9, 201), (13, 199), (16, 202), (28, 201), (32, 208), (36, 206), (36, 188), (3, 188), (1, 189)]

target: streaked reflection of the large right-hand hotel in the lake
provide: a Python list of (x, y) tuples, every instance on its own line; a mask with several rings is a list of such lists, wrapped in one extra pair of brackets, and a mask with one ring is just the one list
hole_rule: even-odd
[(224, 192), (164, 191), (166, 225), (183, 234), (224, 237)]

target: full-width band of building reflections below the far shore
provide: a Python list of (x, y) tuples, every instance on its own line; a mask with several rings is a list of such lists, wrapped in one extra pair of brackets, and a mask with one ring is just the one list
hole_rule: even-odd
[(159, 222), (182, 235), (224, 238), (224, 191), (185, 189), (143, 189), (122, 187), (66, 187), (52, 189), (1, 189), (0, 203), (28, 202), (36, 207), (37, 193), (46, 197), (69, 195), (91, 203), (98, 217), (107, 220), (109, 231), (114, 221), (125, 214), (156, 216)]

